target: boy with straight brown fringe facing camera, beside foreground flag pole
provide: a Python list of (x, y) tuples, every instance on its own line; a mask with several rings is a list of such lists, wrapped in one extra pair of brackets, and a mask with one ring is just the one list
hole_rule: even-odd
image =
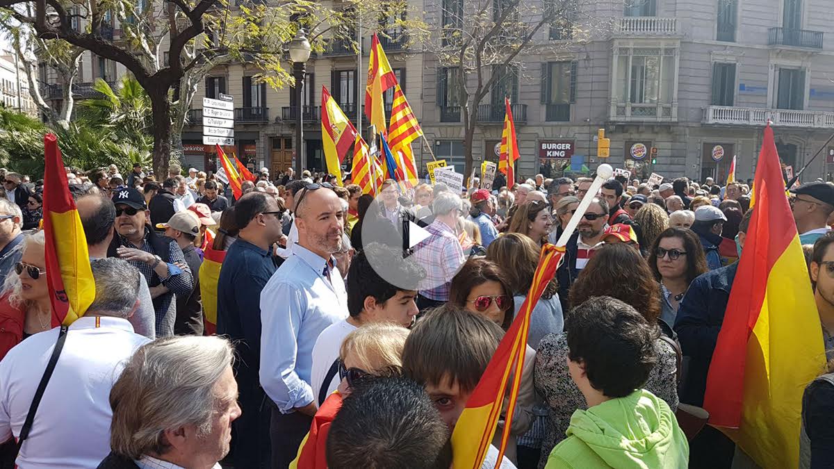
[[(425, 386), (450, 430), (503, 335), (504, 330), (485, 317), (447, 305), (425, 315), (405, 340), (404, 374)], [(498, 450), (490, 446), (482, 467), (495, 467), (497, 457)], [(500, 467), (515, 468), (507, 458)]]

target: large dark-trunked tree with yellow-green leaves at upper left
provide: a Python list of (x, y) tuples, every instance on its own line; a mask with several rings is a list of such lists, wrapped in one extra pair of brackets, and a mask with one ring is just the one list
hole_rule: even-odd
[[(61, 40), (98, 57), (123, 64), (148, 93), (152, 109), (153, 169), (168, 170), (198, 84), (211, 68), (238, 61), (262, 72), (273, 87), (292, 83), (284, 69), (284, 44), (299, 26), (314, 32), (314, 50), (346, 38), (342, 26), (354, 11), (379, 16), (403, 8), (401, 0), (348, 0), (339, 9), (311, 0), (37, 0), (34, 13), (24, 0), (0, 0), (0, 11), (33, 28), (39, 38)], [(121, 34), (113, 38), (108, 18)], [(328, 34), (326, 34), (328, 33)], [(167, 48), (167, 55), (162, 53)], [(167, 57), (168, 60), (164, 60)]]

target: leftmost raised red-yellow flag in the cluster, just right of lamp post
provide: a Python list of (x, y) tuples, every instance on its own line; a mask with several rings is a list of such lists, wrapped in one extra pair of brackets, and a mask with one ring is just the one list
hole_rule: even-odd
[(336, 184), (342, 185), (341, 165), (344, 155), (356, 139), (356, 128), (344, 115), (342, 108), (330, 96), (327, 87), (321, 87), (321, 135), (327, 172), (336, 176)]

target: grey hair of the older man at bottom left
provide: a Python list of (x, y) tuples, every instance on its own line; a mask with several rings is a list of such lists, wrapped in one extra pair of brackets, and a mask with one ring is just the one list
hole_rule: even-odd
[(168, 452), (166, 430), (193, 425), (198, 437), (208, 435), (223, 397), (214, 395), (214, 385), (233, 361), (231, 343), (216, 335), (178, 335), (139, 347), (110, 391), (111, 449), (138, 459)]

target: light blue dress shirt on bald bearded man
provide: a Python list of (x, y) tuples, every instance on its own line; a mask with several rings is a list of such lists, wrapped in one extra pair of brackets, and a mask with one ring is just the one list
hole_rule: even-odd
[(348, 317), (348, 295), (334, 262), (296, 244), (261, 290), (260, 383), (284, 414), (314, 401), (315, 341)]

